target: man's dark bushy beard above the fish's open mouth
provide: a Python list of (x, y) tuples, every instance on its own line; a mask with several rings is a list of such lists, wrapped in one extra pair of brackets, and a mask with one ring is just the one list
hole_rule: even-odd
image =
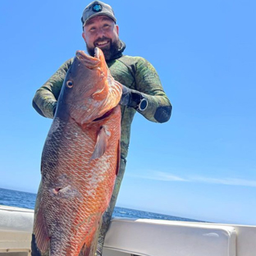
[[(110, 46), (107, 46), (107, 48), (100, 48), (103, 51), (104, 57), (106, 61), (112, 60), (112, 58), (118, 53), (118, 51), (121, 48), (121, 41), (120, 39), (117, 39), (115, 41), (112, 41), (112, 39), (108, 39), (106, 37), (102, 37), (100, 39), (97, 39), (95, 43), (102, 42), (104, 40), (110, 40)], [(94, 57), (94, 48), (89, 48), (86, 44), (87, 52), (90, 56)]]

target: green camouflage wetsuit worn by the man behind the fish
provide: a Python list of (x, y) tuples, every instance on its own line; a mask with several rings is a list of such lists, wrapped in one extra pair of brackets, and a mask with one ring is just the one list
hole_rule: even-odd
[[(143, 57), (130, 57), (122, 55), (125, 44), (117, 55), (107, 62), (113, 78), (130, 89), (141, 92), (148, 99), (148, 107), (140, 112), (149, 121), (165, 122), (171, 117), (171, 103), (162, 89), (157, 71)], [(66, 71), (73, 59), (65, 62), (57, 72), (34, 95), (33, 106), (43, 117), (53, 118), (57, 98), (60, 94)], [(117, 176), (112, 199), (106, 213), (103, 215), (103, 225), (98, 238), (98, 251), (103, 248), (104, 237), (109, 226), (112, 212), (117, 201), (121, 181), (126, 169), (126, 157), (130, 142), (130, 125), (135, 116), (135, 108), (121, 106), (121, 166)], [(35, 209), (37, 206), (35, 207)], [(36, 212), (35, 212), (36, 213)], [(33, 254), (32, 254), (33, 255)], [(36, 254), (34, 254), (36, 255)]]

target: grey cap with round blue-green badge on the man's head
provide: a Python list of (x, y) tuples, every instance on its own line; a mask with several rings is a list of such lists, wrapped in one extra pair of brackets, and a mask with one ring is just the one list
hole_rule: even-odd
[(114, 11), (110, 5), (104, 2), (94, 1), (89, 3), (89, 5), (85, 7), (85, 10), (83, 11), (83, 16), (81, 18), (83, 26), (85, 26), (85, 23), (89, 21), (90, 18), (98, 15), (106, 15), (112, 18), (113, 21), (117, 21)]

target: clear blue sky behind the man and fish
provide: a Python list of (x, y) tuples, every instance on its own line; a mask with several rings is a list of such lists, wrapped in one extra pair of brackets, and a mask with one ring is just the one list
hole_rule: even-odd
[[(36, 192), (51, 120), (31, 106), (62, 62), (85, 50), (86, 1), (2, 0), (0, 187)], [(132, 125), (117, 206), (256, 225), (256, 2), (109, 0), (127, 55), (155, 66), (165, 124)]]

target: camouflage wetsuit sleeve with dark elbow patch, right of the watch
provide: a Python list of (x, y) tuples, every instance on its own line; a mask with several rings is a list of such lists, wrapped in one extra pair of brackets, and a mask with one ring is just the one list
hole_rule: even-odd
[(171, 117), (171, 103), (164, 93), (155, 68), (144, 58), (136, 63), (136, 89), (148, 99), (148, 106), (144, 111), (137, 111), (149, 121), (166, 122)]

